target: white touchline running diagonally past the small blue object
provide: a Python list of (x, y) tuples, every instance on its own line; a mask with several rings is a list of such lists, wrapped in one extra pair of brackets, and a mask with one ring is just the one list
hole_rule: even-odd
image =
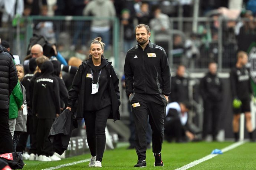
[[(232, 149), (234, 149), (234, 148), (236, 148), (236, 147), (238, 147), (240, 145), (243, 145), (244, 143), (245, 143), (245, 141), (240, 141), (240, 142), (233, 143), (232, 145), (229, 145), (229, 146), (221, 149), (221, 151), (223, 153), (227, 152), (227, 151), (232, 150)], [(189, 168), (191, 168), (193, 166), (196, 166), (197, 164), (200, 164), (200, 163), (202, 163), (202, 162), (204, 162), (206, 160), (209, 160), (209, 159), (211, 159), (211, 158), (213, 158), (215, 156), (218, 156), (218, 155), (219, 154), (209, 154), (209, 155), (207, 155), (207, 156), (205, 156), (205, 157), (203, 157), (201, 159), (195, 160), (195, 161), (193, 161), (193, 162), (191, 162), (189, 164), (186, 164), (183, 167), (180, 167), (180, 168), (175, 169), (175, 170), (186, 170), (186, 169), (189, 169)]]

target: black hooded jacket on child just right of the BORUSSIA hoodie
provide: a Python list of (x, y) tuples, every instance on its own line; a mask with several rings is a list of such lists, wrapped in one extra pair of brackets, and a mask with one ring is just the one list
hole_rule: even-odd
[(68, 102), (68, 89), (66, 88), (65, 82), (63, 81), (63, 79), (61, 79), (59, 77), (60, 75), (60, 62), (53, 60), (52, 61), (53, 67), (54, 67), (54, 74), (53, 76), (58, 80), (59, 82), (59, 89), (60, 89), (60, 102), (61, 102), (61, 106), (63, 105), (63, 103), (65, 103), (65, 105)]

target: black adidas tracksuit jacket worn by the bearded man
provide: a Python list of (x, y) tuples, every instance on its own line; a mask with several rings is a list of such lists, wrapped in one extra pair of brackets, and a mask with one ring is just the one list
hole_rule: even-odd
[(144, 94), (171, 93), (171, 74), (164, 49), (149, 42), (143, 50), (139, 44), (125, 57), (125, 86), (129, 96), (133, 92)]

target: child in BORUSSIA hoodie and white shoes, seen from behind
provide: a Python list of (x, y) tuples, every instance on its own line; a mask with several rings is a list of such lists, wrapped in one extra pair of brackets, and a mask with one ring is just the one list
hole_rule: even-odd
[(33, 114), (38, 118), (37, 153), (39, 161), (50, 161), (53, 155), (48, 135), (54, 118), (60, 114), (59, 82), (53, 76), (54, 68), (50, 61), (41, 66), (42, 75), (36, 78), (33, 93)]

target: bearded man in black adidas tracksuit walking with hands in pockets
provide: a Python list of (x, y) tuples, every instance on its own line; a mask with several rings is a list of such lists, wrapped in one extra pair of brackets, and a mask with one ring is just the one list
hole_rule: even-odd
[(171, 74), (164, 49), (150, 42), (150, 28), (140, 24), (135, 28), (138, 44), (126, 55), (124, 73), (126, 93), (131, 101), (136, 128), (135, 167), (146, 166), (147, 120), (152, 129), (154, 166), (163, 166), (161, 149), (164, 137), (165, 106), (171, 92)]

